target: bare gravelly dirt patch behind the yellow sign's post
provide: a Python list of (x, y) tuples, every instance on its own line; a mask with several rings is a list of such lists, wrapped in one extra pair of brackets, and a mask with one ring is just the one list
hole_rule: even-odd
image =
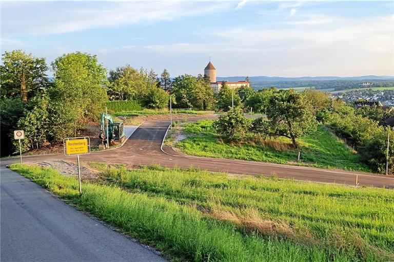
[[(78, 176), (77, 164), (69, 161), (63, 161), (63, 160), (29, 161), (26, 162), (26, 164), (51, 167), (66, 176), (72, 176), (72, 177)], [(82, 180), (95, 180), (99, 178), (99, 175), (100, 175), (99, 171), (90, 168), (90, 166), (85, 163), (81, 163)]]

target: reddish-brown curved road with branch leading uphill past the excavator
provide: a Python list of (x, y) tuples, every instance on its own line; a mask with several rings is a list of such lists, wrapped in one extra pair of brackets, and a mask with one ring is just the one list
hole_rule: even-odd
[[(187, 119), (187, 121), (198, 119), (201, 119), (201, 117)], [(81, 161), (124, 163), (128, 165), (160, 164), (167, 167), (179, 166), (183, 168), (193, 165), (209, 171), (250, 174), (252, 176), (271, 176), (272, 173), (275, 173), (280, 178), (347, 185), (354, 185), (356, 176), (358, 176), (360, 186), (394, 187), (394, 177), (386, 177), (379, 174), (232, 159), (193, 157), (175, 152), (172, 148), (164, 147), (162, 150), (161, 146), (168, 126), (169, 120), (146, 121), (135, 130), (122, 147), (114, 150), (92, 152), (90, 155), (81, 156)], [(29, 160), (50, 159), (70, 161), (74, 160), (75, 157), (65, 157), (61, 154), (29, 157)], [(18, 159), (4, 160), (2, 164), (16, 161)]]

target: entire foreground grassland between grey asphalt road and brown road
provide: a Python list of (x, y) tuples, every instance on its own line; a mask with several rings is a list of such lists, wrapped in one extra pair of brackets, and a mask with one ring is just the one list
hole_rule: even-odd
[[(389, 261), (394, 193), (224, 173), (91, 163), (82, 184), (49, 168), (13, 170), (175, 261)], [(113, 166), (113, 165), (112, 165)]]

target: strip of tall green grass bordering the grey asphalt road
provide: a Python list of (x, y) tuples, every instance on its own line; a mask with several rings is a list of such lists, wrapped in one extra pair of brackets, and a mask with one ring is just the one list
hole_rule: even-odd
[[(77, 180), (53, 169), (16, 164), (11, 168), (76, 204), (77, 208), (91, 212), (177, 260), (360, 260), (353, 257), (353, 253), (338, 249), (307, 247), (287, 239), (262, 237), (258, 233), (245, 234), (233, 223), (211, 219), (192, 206), (143, 190), (128, 192), (117, 186), (84, 181), (80, 196)], [(368, 258), (375, 259), (371, 254)]]

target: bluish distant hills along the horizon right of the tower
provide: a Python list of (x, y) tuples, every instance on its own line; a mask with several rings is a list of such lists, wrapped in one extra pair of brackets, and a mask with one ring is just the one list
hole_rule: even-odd
[[(218, 81), (228, 80), (242, 81), (245, 80), (245, 76), (229, 76), (229, 77), (217, 77)], [(251, 82), (261, 81), (302, 81), (302, 80), (394, 80), (394, 76), (350, 76), (350, 77), (339, 77), (339, 76), (304, 76), (304, 77), (277, 77), (277, 76), (250, 76)]]

